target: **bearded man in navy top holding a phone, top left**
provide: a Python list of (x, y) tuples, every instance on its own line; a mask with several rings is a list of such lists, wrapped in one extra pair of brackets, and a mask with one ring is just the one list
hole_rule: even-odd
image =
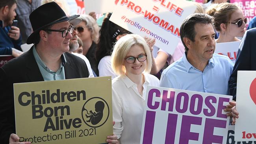
[(16, 8), (15, 0), (0, 1), (0, 55), (17, 57), (22, 54), (20, 29), (11, 26), (16, 16)]

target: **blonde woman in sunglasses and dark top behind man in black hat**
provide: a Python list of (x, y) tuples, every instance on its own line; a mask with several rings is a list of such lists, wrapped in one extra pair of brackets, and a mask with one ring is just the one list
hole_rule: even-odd
[(75, 27), (75, 30), (78, 32), (77, 36), (83, 42), (83, 55), (87, 57), (91, 68), (98, 76), (98, 63), (95, 58), (95, 52), (98, 43), (99, 27), (95, 19), (89, 15), (81, 15), (79, 18), (82, 19), (82, 22)]

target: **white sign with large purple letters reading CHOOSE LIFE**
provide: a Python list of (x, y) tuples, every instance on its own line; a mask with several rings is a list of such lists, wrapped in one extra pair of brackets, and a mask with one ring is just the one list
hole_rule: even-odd
[(147, 87), (141, 144), (224, 144), (232, 96)]

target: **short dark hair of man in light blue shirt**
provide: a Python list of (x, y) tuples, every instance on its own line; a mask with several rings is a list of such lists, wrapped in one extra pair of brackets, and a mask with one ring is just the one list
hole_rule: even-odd
[(183, 41), (184, 37), (187, 37), (191, 41), (195, 41), (195, 35), (197, 34), (195, 31), (195, 24), (211, 24), (214, 28), (213, 17), (204, 13), (194, 13), (189, 15), (180, 26), (180, 39), (185, 47), (185, 51), (187, 52), (188, 48)]

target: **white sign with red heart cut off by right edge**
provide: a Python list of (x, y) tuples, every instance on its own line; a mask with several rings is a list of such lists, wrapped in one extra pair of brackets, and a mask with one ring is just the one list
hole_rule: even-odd
[(256, 141), (256, 71), (237, 72), (235, 140)]

